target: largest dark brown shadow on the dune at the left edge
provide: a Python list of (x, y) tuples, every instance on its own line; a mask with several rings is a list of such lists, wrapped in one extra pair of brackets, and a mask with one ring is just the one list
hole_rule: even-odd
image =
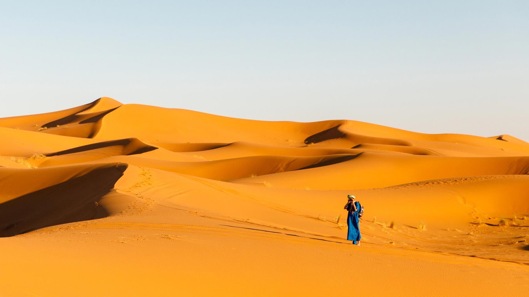
[(107, 217), (109, 212), (95, 202), (114, 188), (127, 166), (97, 168), (80, 177), (0, 203), (0, 237)]

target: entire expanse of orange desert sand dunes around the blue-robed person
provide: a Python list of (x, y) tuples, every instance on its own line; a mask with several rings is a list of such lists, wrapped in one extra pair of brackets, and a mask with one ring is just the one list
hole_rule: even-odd
[(2, 296), (529, 291), (529, 143), (513, 136), (106, 97), (1, 118), (0, 135)]

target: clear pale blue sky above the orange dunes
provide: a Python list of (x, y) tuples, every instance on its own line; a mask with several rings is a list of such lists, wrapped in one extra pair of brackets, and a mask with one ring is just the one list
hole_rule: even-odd
[(529, 141), (529, 1), (0, 1), (0, 117), (112, 97)]

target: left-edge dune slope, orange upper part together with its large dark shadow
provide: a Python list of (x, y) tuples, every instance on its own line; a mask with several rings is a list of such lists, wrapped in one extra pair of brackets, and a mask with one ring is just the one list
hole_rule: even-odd
[[(31, 171), (0, 168), (0, 237), (108, 216), (110, 212), (99, 201), (113, 190), (126, 167), (101, 164)], [(56, 183), (57, 179), (65, 180)]]

